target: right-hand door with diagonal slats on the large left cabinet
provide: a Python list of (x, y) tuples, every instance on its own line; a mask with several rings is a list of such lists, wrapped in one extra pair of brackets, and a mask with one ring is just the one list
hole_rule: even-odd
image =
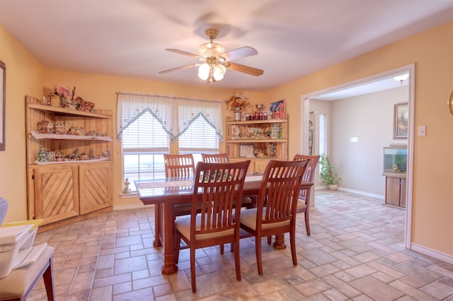
[(80, 213), (112, 206), (112, 163), (80, 165)]

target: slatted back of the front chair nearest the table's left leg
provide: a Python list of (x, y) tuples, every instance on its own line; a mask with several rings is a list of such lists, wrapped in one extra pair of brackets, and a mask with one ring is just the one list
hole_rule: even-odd
[[(249, 164), (250, 160), (237, 163), (197, 163), (192, 223), (195, 225), (196, 205), (200, 208), (198, 215), (201, 223), (197, 229), (191, 228), (194, 239), (195, 235), (229, 230), (236, 226), (233, 217), (239, 216), (241, 211), (243, 183)], [(195, 191), (199, 193), (196, 194)]]

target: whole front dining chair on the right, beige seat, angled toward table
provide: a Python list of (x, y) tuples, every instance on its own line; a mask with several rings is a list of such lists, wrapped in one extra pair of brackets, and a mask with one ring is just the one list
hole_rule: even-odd
[(263, 275), (261, 238), (289, 232), (292, 264), (297, 266), (296, 210), (305, 161), (270, 160), (266, 165), (256, 208), (241, 211), (241, 229), (255, 236), (258, 274)]

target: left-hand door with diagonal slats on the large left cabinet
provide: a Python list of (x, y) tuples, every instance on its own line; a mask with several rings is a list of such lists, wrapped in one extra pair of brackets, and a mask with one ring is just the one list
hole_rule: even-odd
[(35, 218), (44, 218), (42, 225), (79, 216), (77, 174), (76, 165), (35, 167)]

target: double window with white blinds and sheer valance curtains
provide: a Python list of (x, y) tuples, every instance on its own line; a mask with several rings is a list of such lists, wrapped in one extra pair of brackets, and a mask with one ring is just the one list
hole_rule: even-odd
[[(117, 138), (122, 143), (123, 180), (165, 177), (164, 153), (218, 153), (222, 102), (163, 95), (118, 93)], [(174, 146), (172, 146), (172, 143)], [(135, 185), (130, 185), (135, 191)]]

